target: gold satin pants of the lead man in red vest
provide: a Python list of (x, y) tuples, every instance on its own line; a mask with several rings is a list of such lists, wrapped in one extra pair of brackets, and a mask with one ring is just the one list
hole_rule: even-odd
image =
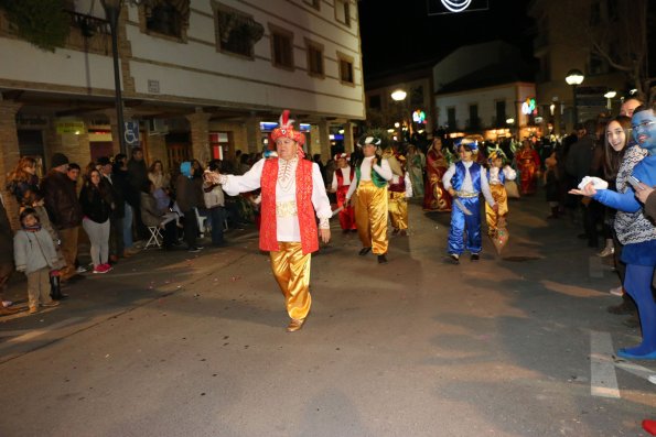
[(310, 260), (303, 254), (301, 243), (279, 242), (280, 250), (269, 252), (271, 270), (284, 296), (284, 306), (290, 318), (304, 319), (310, 313)]

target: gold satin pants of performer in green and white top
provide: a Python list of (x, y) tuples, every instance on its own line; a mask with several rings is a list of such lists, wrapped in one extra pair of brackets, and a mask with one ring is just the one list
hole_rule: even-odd
[(387, 187), (361, 181), (355, 203), (355, 223), (364, 248), (381, 255), (387, 253)]

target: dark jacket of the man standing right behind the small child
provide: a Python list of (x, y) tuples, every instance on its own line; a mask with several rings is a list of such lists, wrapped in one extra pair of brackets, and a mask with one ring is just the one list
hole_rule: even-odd
[(82, 223), (82, 207), (75, 184), (64, 173), (51, 170), (41, 182), (45, 209), (55, 229), (71, 229)]

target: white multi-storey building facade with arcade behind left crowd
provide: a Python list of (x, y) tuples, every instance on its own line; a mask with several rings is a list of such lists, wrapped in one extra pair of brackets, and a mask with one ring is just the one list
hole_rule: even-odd
[[(182, 160), (261, 152), (283, 109), (308, 152), (365, 118), (355, 0), (122, 2), (118, 61), (126, 142), (172, 168)], [(19, 37), (0, 9), (0, 172), (21, 155), (82, 166), (119, 152), (111, 29), (101, 2), (65, 1), (64, 47)], [(11, 59), (11, 62), (7, 62)], [(8, 196), (6, 196), (7, 198)]]

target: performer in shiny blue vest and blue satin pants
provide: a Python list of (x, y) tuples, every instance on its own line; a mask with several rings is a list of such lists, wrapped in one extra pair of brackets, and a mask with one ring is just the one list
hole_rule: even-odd
[(486, 172), (478, 163), (474, 162), (474, 153), (478, 150), (477, 143), (467, 139), (459, 139), (454, 145), (460, 161), (451, 164), (442, 183), (453, 197), (448, 252), (458, 264), (460, 255), (465, 249), (471, 253), (472, 261), (480, 259), (483, 249), (480, 194), (483, 193), (485, 200), (494, 211), (498, 211), (498, 205), (495, 204), (492, 193), (490, 193)]

